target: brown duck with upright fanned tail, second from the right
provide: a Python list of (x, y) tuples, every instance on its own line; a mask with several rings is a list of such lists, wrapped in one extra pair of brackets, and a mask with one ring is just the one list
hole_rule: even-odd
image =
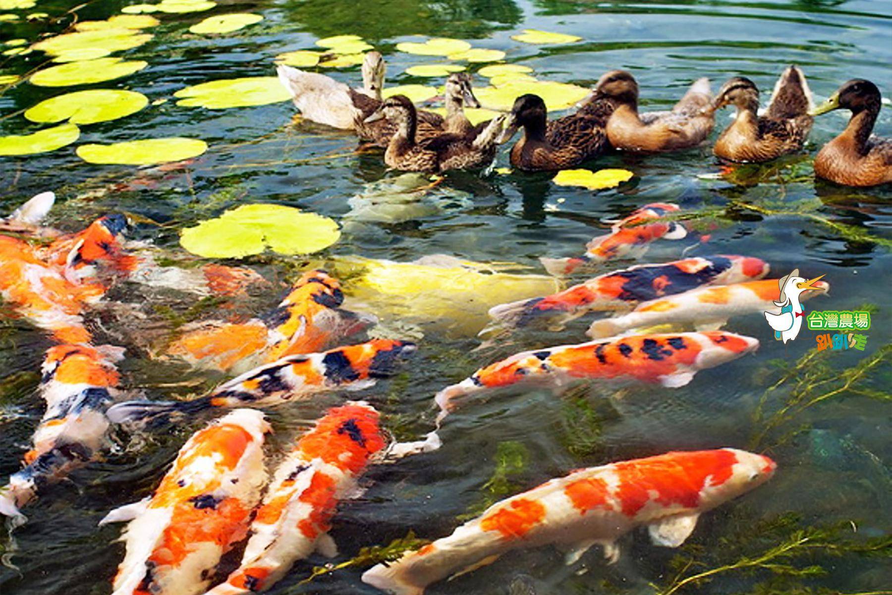
[(759, 89), (746, 77), (729, 79), (715, 96), (712, 110), (726, 105), (737, 107), (734, 122), (725, 128), (713, 147), (716, 157), (725, 161), (771, 161), (780, 155), (802, 149), (812, 129), (812, 92), (805, 75), (789, 66), (774, 85), (771, 101), (758, 115)]

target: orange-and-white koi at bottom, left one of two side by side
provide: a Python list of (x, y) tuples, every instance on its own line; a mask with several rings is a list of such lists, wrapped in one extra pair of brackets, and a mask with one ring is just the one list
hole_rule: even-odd
[(130, 521), (113, 595), (203, 593), (220, 557), (248, 533), (266, 483), (256, 409), (235, 409), (193, 434), (152, 496), (99, 523)]

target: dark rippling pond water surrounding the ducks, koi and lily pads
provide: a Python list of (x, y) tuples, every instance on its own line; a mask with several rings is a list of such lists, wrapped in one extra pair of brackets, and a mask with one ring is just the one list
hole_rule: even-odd
[[(31, 42), (61, 32), (72, 20), (70, 10), (84, 21), (108, 18), (125, 5), (118, 0), (86, 4), (40, 0), (34, 8), (0, 11), (21, 15), (18, 21), (0, 22), (0, 42), (17, 38)], [(24, 19), (26, 13), (37, 11), (49, 18)], [(206, 16), (226, 12), (255, 12), (263, 21), (219, 36), (187, 32)], [(337, 271), (335, 257), (409, 261), (448, 254), (478, 262), (516, 263), (520, 273), (544, 274), (541, 256), (580, 253), (583, 244), (602, 233), (603, 219), (623, 217), (648, 202), (676, 202), (685, 211), (712, 213), (697, 219), (708, 240), (688, 253), (756, 256), (770, 262), (777, 276), (794, 268), (808, 277), (823, 274), (832, 285), (831, 293), (810, 302), (811, 307), (855, 310), (871, 304), (874, 309), (866, 350), (828, 351), (822, 354), (822, 363), (799, 369), (792, 380), (767, 393), (769, 417), (787, 402), (797, 380), (813, 375), (815, 382), (825, 382), (808, 393), (808, 398), (816, 397), (822, 386), (836, 386), (846, 370), (877, 355), (889, 341), (892, 188), (834, 186), (816, 181), (812, 174), (814, 153), (844, 128), (847, 112), (816, 120), (805, 154), (782, 161), (780, 167), (743, 168), (730, 177), (716, 178), (708, 176), (720, 172), (708, 146), (654, 157), (610, 154), (588, 167), (629, 169), (635, 178), (598, 193), (556, 186), (549, 174), (450, 173), (424, 208), (369, 217), (348, 215), (356, 209), (351, 197), (395, 174), (386, 171), (380, 153), (353, 153), (355, 137), (293, 123), (290, 102), (208, 110), (179, 106), (172, 97), (183, 87), (205, 81), (271, 76), (277, 54), (312, 49), (316, 39), (341, 34), (359, 35), (384, 54), (389, 84), (442, 84), (442, 79), (417, 79), (404, 72), (415, 64), (441, 60), (395, 49), (401, 41), (421, 39), (415, 36), (434, 36), (503, 50), (507, 62), (533, 68), (539, 79), (582, 87), (591, 87), (605, 70), (631, 70), (649, 109), (671, 105), (699, 77), (709, 77), (715, 90), (731, 76), (747, 76), (767, 101), (780, 71), (790, 63), (805, 71), (821, 100), (853, 77), (871, 79), (888, 92), (892, 88), (888, 2), (223, 0), (208, 12), (161, 14), (160, 19), (161, 26), (151, 30), (155, 36), (151, 41), (115, 54), (149, 63), (131, 76), (86, 87), (35, 87), (27, 82), (0, 87), (0, 136), (42, 128), (24, 120), (21, 111), (45, 98), (81, 88), (123, 88), (147, 95), (151, 103), (127, 118), (81, 127), (76, 145), (188, 136), (205, 140), (209, 151), (182, 166), (150, 169), (91, 165), (75, 154), (76, 145), (28, 157), (0, 157), (0, 211), (12, 211), (29, 196), (53, 190), (59, 197), (49, 221), (54, 227), (73, 231), (104, 213), (124, 212), (134, 222), (128, 238), (152, 241), (170, 261), (186, 260), (178, 244), (181, 228), (245, 202), (291, 205), (339, 220), (343, 236), (318, 257), (267, 254), (241, 262), (273, 284), (253, 292), (249, 309), (263, 311), (277, 303), (301, 269), (321, 263)], [(582, 41), (529, 45), (511, 39), (521, 29), (566, 33)], [(0, 56), (0, 75), (35, 70), (44, 60), (39, 52)], [(483, 65), (470, 66), (476, 70)], [(354, 84), (359, 80), (358, 67), (326, 73)], [(483, 85), (482, 79), (478, 84)], [(876, 131), (889, 136), (892, 109), (884, 105)], [(729, 113), (719, 115), (717, 128), (731, 121)], [(497, 167), (508, 167), (508, 147), (500, 150)], [(696, 243), (690, 237), (657, 242), (640, 261), (675, 260)], [(616, 263), (628, 264), (632, 262)], [(356, 310), (365, 307), (376, 313), (391, 335), (419, 341), (416, 357), (397, 376), (359, 393), (386, 414), (392, 431), (401, 438), (429, 429), (431, 398), (446, 384), (512, 352), (584, 340), (585, 326), (574, 324), (558, 333), (518, 334), (482, 345), (476, 333), (485, 307), (474, 301), (450, 302), (450, 287), (434, 288), (442, 293), (436, 308), (409, 302), (388, 309), (386, 303), (377, 302), (376, 310), (375, 302), (360, 300), (359, 285), (351, 285), (349, 274), (343, 275), (343, 282), (348, 303)], [(225, 318), (227, 313), (212, 307), (195, 312), (188, 296), (139, 285), (116, 287), (109, 298), (132, 304), (132, 310), (121, 307), (95, 320), (97, 335), (104, 341), (128, 347), (128, 359), (121, 365), (128, 390), (152, 398), (187, 397), (217, 384), (219, 375), (151, 359), (147, 345), (152, 337), (173, 330), (186, 314)], [(4, 309), (0, 328), (4, 481), (19, 468), (42, 415), (42, 404), (32, 389), (42, 352), (50, 344), (45, 335), (11, 314)], [(780, 377), (778, 362), (793, 365), (814, 351), (815, 333), (804, 330), (793, 343), (775, 342), (756, 314), (734, 318), (728, 328), (758, 338), (759, 351), (703, 371), (680, 389), (594, 384), (561, 395), (518, 389), (459, 410), (442, 428), (441, 450), (370, 469), (365, 480), (368, 490), (344, 502), (335, 518), (332, 534), (341, 552), (335, 561), (355, 556), (361, 547), (386, 544), (409, 530), (424, 538), (444, 536), (459, 524), (458, 516), (479, 510), (487, 498), (498, 500), (574, 468), (666, 450), (722, 446), (765, 450), (778, 462), (779, 471), (771, 482), (701, 518), (689, 545), (681, 550), (684, 559), (695, 560), (693, 566), (684, 567), (682, 560), (680, 567), (674, 559), (678, 551), (654, 547), (645, 533), (634, 532), (621, 542), (624, 556), (615, 566), (605, 564), (598, 548), (570, 567), (563, 565), (558, 550), (522, 550), (450, 583), (434, 584), (428, 592), (654, 593), (665, 590), (680, 572), (695, 574), (758, 554), (799, 528), (842, 522), (847, 528), (840, 539), (888, 537), (892, 416), (888, 392), (883, 393), (892, 380), (888, 362), (858, 384), (858, 391), (805, 409), (754, 446), (753, 436), (765, 423), (764, 417), (756, 421), (755, 411), (766, 389)], [(331, 394), (269, 409), (276, 429), (270, 452), (274, 456), (281, 452), (308, 420), (344, 396)], [(115, 541), (120, 527), (100, 529), (96, 523), (109, 509), (150, 492), (187, 436), (209, 418), (194, 417), (155, 434), (121, 434), (117, 452), (47, 489), (27, 509), (29, 523), (13, 533), (14, 539), (0, 539), (6, 562), (0, 567), (0, 591), (4, 595), (110, 592), (111, 577), (123, 556), (123, 545)], [(796, 430), (801, 431), (788, 435)], [(494, 474), (508, 482), (502, 492), (496, 489), (500, 481), (490, 481)], [(775, 527), (774, 533), (760, 525), (788, 514), (796, 520)], [(892, 576), (888, 542), (885, 556), (880, 557), (857, 552), (833, 557), (817, 550), (805, 558), (776, 561), (799, 568), (814, 564), (823, 572), (792, 578), (772, 576), (764, 569), (755, 574), (719, 573), (712, 582), (687, 584), (677, 592), (794, 592), (800, 587), (834, 593), (890, 592), (883, 591)], [(359, 581), (362, 567), (298, 585), (311, 566), (325, 562), (314, 556), (299, 563), (270, 592), (377, 592)]]

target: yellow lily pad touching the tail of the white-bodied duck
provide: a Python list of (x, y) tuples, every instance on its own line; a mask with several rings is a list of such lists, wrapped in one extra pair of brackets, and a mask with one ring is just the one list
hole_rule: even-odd
[(173, 95), (180, 97), (178, 105), (206, 107), (211, 110), (266, 105), (291, 99), (291, 95), (276, 77), (211, 80), (180, 89)]

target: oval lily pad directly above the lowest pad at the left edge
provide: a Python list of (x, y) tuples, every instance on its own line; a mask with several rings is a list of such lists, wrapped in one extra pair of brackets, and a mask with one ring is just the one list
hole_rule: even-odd
[(32, 122), (68, 120), (73, 124), (94, 124), (129, 116), (148, 103), (148, 97), (135, 91), (92, 89), (46, 99), (27, 110), (25, 118)]

